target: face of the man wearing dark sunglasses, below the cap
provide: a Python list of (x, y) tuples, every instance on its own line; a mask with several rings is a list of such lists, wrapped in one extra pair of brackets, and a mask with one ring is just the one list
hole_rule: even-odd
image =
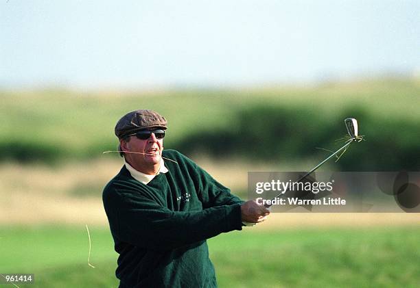
[[(150, 129), (154, 131), (154, 129)], [(137, 153), (126, 153), (125, 157), (129, 163), (135, 168), (141, 168), (142, 166), (150, 166), (159, 164), (161, 162), (161, 156), (163, 151), (163, 139), (156, 138), (155, 133), (151, 133), (148, 139), (142, 140), (137, 135), (131, 135), (126, 140), (121, 140), (121, 149), (124, 152), (137, 152)], [(137, 169), (139, 170), (139, 169)]]

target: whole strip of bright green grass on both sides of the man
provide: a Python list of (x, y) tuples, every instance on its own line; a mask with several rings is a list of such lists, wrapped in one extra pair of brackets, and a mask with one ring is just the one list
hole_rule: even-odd
[[(117, 287), (108, 230), (0, 228), (0, 271), (35, 273), (20, 287)], [(416, 287), (420, 229), (319, 228), (224, 233), (209, 240), (220, 287)]]

